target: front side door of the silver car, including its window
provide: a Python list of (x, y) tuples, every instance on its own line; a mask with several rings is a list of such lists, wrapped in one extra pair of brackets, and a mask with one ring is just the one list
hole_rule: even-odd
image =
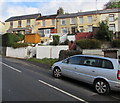
[(76, 78), (76, 66), (80, 63), (80, 56), (70, 57), (61, 64), (62, 74), (68, 77)]

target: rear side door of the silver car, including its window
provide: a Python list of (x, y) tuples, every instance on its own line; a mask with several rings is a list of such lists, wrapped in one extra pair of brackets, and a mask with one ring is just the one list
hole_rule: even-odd
[(96, 65), (98, 65), (98, 59), (83, 57), (80, 65), (76, 66), (77, 79), (83, 82), (92, 83), (95, 78)]

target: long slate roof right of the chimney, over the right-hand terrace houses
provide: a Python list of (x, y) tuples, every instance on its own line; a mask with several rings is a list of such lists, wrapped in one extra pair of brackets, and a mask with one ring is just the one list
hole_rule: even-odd
[(62, 18), (70, 18), (70, 17), (76, 17), (76, 16), (84, 16), (84, 15), (93, 15), (93, 14), (105, 14), (105, 13), (116, 13), (120, 12), (120, 8), (115, 8), (115, 9), (105, 9), (105, 10), (95, 10), (95, 11), (87, 11), (87, 12), (78, 12), (78, 13), (71, 13), (71, 14), (63, 14), (63, 15), (58, 15), (56, 18), (57, 19), (62, 19)]

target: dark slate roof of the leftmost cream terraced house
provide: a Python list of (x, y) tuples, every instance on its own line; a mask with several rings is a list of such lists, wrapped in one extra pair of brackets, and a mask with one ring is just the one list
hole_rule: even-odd
[(39, 16), (41, 16), (41, 13), (31, 14), (31, 15), (14, 16), (14, 17), (10, 17), (5, 22), (16, 21), (16, 20), (25, 20), (25, 19), (35, 19)]

